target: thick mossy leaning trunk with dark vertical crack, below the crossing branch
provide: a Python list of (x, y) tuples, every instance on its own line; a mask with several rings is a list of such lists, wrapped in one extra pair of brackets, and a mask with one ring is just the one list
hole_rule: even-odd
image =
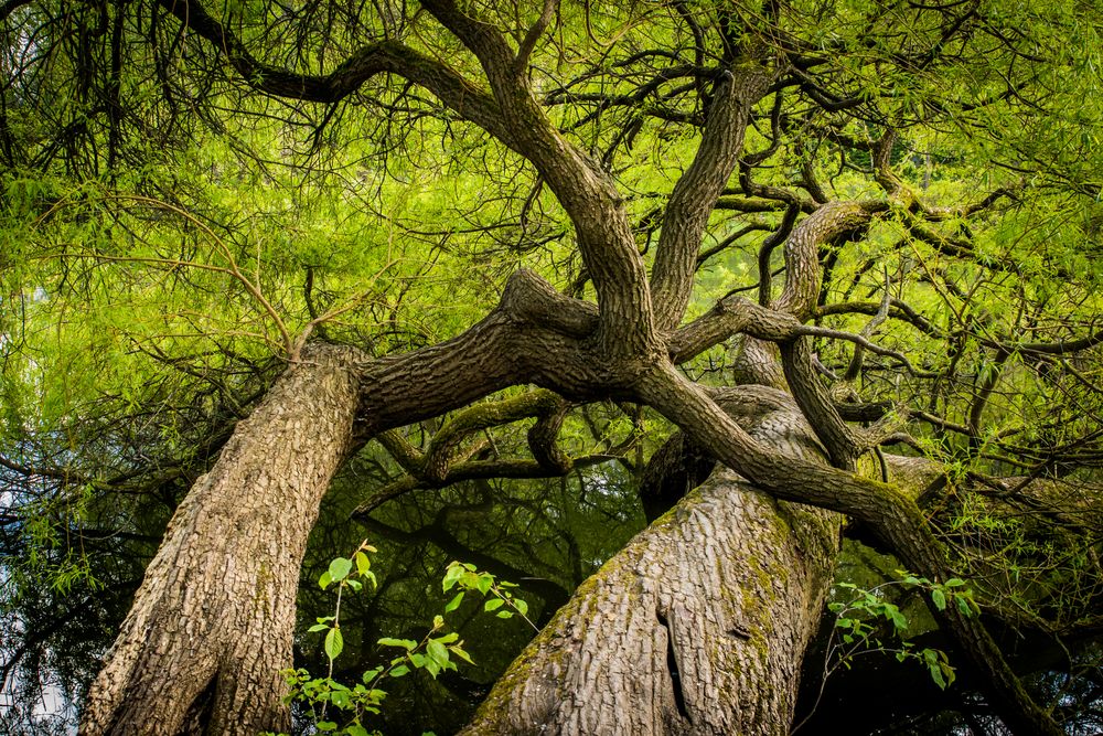
[(718, 469), (579, 587), (462, 733), (789, 733), (840, 522)]

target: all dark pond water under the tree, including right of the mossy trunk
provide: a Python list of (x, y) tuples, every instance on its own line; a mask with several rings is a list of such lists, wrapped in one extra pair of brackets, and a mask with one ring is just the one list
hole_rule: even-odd
[[(394, 468), (364, 454), (335, 482), (311, 537), (298, 601), (297, 666), (315, 676), (325, 674), (321, 634), (307, 629), (315, 617), (333, 612), (334, 597), (322, 591), (317, 579), (333, 557), (350, 555), (365, 538), (378, 550), (372, 557), (379, 586), (342, 599), (345, 649), (333, 676), (343, 683), (360, 682), (365, 670), (394, 655), (395, 650), (376, 646), (381, 637), (420, 640), (426, 634), (433, 616), (454, 594), (446, 594), (440, 585), (451, 561), (472, 563), (516, 583), (516, 595), (527, 601), (529, 617), (543, 626), (586, 577), (643, 527), (633, 470), (627, 463), (608, 462), (561, 479), (473, 481), (414, 491), (370, 516), (354, 518), (353, 511), (396, 476)], [(94, 588), (79, 578), (65, 589), (42, 586), (21, 579), (22, 572), (0, 566), (6, 593), (20, 591), (0, 598), (4, 606), (0, 654), (6, 663), (0, 734), (74, 733), (83, 691), (129, 608), (142, 565), (156, 551), (172, 508), (171, 499), (142, 503), (126, 512), (131, 522), (140, 520), (126, 534), (83, 540), (89, 572), (98, 580)], [(122, 506), (117, 506), (110, 511), (118, 513)], [(13, 537), (2, 542), (6, 552), (19, 552)], [(891, 557), (848, 545), (838, 575), (875, 587), (896, 566)], [(461, 663), (458, 671), (437, 679), (414, 672), (389, 681), (382, 713), (365, 725), (388, 736), (430, 730), (446, 736), (468, 722), (534, 634), (518, 618), (502, 620), (483, 612), (475, 598), (469, 594), (463, 606), (446, 616), (447, 630), (459, 633), (474, 664)], [(825, 619), (823, 637), (831, 633), (831, 623)], [(952, 661), (961, 661), (936, 631), (918, 636), (917, 646), (946, 649)], [(868, 655), (853, 668), (836, 668), (821, 693), (823, 637), (806, 659), (799, 708), (802, 716), (813, 707), (815, 713), (799, 733), (1005, 733), (976, 694), (983, 683), (971, 681), (965, 668), (959, 684), (942, 691), (920, 666), (901, 664), (891, 655)], [(1070, 718), (1068, 733), (1101, 733), (1103, 648), (1097, 640), (1069, 652), (1052, 641), (1011, 637), (1006, 643), (1006, 651), (1032, 672), (1027, 678), (1034, 691)], [(310, 733), (301, 710), (297, 732)]]

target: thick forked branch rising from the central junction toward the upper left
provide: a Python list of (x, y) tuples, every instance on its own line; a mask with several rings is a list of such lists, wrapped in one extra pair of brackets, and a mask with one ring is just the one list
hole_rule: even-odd
[[(185, 26), (223, 51), (254, 88), (280, 97), (333, 103), (387, 72), (428, 89), (464, 119), (531, 161), (567, 211), (598, 292), (603, 348), (639, 350), (652, 340), (651, 295), (622, 196), (600, 164), (554, 128), (537, 104), (527, 74), (502, 34), (467, 15), (449, 0), (424, 7), (479, 57), (490, 93), (446, 64), (394, 40), (378, 41), (349, 56), (326, 75), (303, 75), (264, 64), (225, 25), (194, 0), (160, 0)], [(615, 333), (618, 337), (613, 338)]]

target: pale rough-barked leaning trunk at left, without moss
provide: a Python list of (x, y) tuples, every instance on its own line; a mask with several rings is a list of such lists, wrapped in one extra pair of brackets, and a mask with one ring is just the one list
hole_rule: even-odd
[(352, 445), (354, 356), (311, 349), (196, 481), (92, 685), (82, 734), (289, 726), (279, 673), (307, 536)]

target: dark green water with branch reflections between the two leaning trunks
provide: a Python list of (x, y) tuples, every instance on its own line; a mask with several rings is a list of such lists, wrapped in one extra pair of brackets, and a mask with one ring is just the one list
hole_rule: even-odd
[[(393, 655), (394, 650), (375, 646), (381, 637), (425, 636), (433, 615), (454, 594), (446, 595), (440, 585), (452, 559), (518, 584), (517, 595), (529, 604), (529, 618), (543, 626), (644, 525), (633, 474), (617, 462), (565, 478), (478, 480), (407, 493), (368, 518), (350, 522), (350, 512), (381, 486), (381, 472), (379, 463), (368, 461), (343, 473), (326, 500), (303, 566), (300, 632), (315, 617), (332, 614), (332, 596), (315, 584), (329, 558), (350, 554), (364, 537), (379, 550), (373, 555), (378, 591), (354, 594), (341, 604), (345, 653), (336, 661), (334, 676), (349, 684)], [(437, 680), (415, 672), (389, 681), (384, 712), (373, 724), (384, 734), (432, 730), (445, 736), (462, 727), (534, 633), (521, 619), (482, 612), (482, 600), (470, 595), (447, 620), (475, 664)], [(321, 634), (300, 633), (297, 657), (299, 665), (324, 674)]]

